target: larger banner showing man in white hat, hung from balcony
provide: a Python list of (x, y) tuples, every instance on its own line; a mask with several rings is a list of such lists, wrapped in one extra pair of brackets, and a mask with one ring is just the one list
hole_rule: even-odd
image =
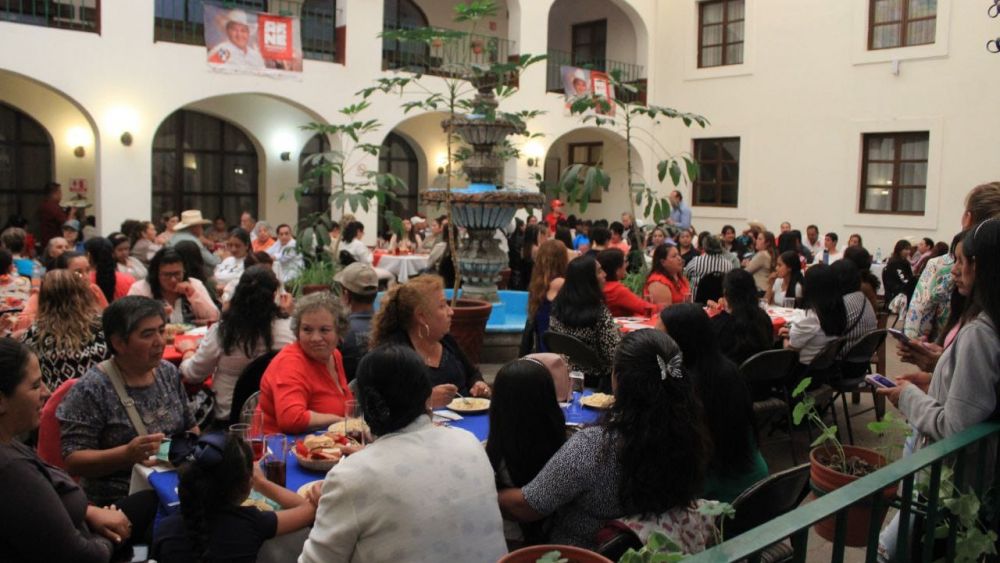
[(299, 18), (205, 4), (205, 47), (213, 70), (298, 76)]

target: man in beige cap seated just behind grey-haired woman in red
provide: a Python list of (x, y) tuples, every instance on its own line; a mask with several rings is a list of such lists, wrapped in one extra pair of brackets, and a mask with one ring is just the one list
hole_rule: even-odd
[(340, 271), (334, 278), (340, 284), (340, 300), (348, 308), (347, 334), (340, 340), (340, 354), (344, 360), (347, 381), (354, 380), (358, 362), (368, 352), (368, 333), (371, 332), (375, 312), (375, 294), (378, 293), (378, 274), (368, 264), (355, 262)]

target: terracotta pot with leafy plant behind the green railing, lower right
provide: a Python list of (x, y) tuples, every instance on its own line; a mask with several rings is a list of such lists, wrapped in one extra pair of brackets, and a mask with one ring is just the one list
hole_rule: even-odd
[[(819, 460), (816, 459), (816, 453), (825, 451), (827, 451), (826, 448), (815, 448), (813, 451), (809, 452), (809, 481), (814, 489), (824, 493), (829, 493), (843, 487), (844, 485), (853, 483), (860, 478), (855, 477), (854, 475), (841, 473), (820, 463)], [(858, 457), (878, 468), (885, 466), (885, 458), (878, 452), (868, 448), (844, 446), (844, 455), (849, 458)], [(882, 490), (882, 497), (885, 499), (892, 498), (895, 494), (895, 484)], [(815, 498), (815, 493), (813, 493), (813, 498)], [(844, 540), (845, 543), (851, 547), (863, 547), (867, 545), (868, 529), (871, 526), (872, 517), (874, 516), (880, 522), (879, 526), (881, 526), (881, 522), (885, 519), (887, 509), (887, 506), (883, 505), (882, 509), (877, 514), (873, 515), (870, 503), (864, 501), (849, 508), (847, 510), (847, 536)], [(826, 520), (818, 522), (815, 526), (813, 526), (813, 529), (816, 530), (816, 533), (819, 534), (821, 538), (832, 542), (836, 526), (836, 518), (831, 516)]]

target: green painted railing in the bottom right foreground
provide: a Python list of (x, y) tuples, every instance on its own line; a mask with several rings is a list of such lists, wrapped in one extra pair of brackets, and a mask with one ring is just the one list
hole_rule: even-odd
[[(791, 538), (795, 551), (793, 561), (805, 561), (809, 543), (809, 528), (830, 516), (836, 518), (836, 537), (831, 549), (830, 560), (843, 561), (847, 510), (860, 504), (870, 506), (869, 510), (873, 514), (884, 511), (887, 505), (899, 509), (900, 526), (896, 553), (898, 561), (911, 560), (910, 539), (913, 537), (914, 530), (910, 516), (921, 516), (924, 519), (924, 536), (915, 542), (921, 550), (916, 555), (921, 561), (937, 560), (941, 555), (933, 553), (935, 529), (938, 527), (938, 523), (945, 519), (951, 520), (951, 523), (954, 524), (954, 516), (944, 509), (943, 501), (940, 498), (943, 468), (946, 465), (953, 466), (954, 486), (957, 491), (967, 492), (967, 487), (971, 486), (979, 498), (984, 499), (984, 472), (987, 468), (992, 467), (994, 478), (998, 476), (996, 473), (1000, 472), (1000, 458), (994, 452), (993, 459), (988, 459), (989, 448), (987, 447), (989, 442), (995, 444), (995, 440), (990, 439), (995, 438), (998, 434), (1000, 434), (1000, 423), (996, 422), (978, 424), (968, 428), (841, 489), (825, 494), (762, 526), (687, 558), (685, 563), (718, 563), (742, 560), (756, 562), (760, 560), (762, 550), (786, 538)], [(967, 471), (970, 467), (967, 454), (970, 453), (975, 455), (975, 465), (971, 466), (972, 471)], [(925, 468), (929, 468), (929, 477)], [(918, 473), (921, 480), (926, 480), (928, 485), (926, 498), (919, 501), (914, 499), (913, 494)], [(967, 474), (973, 476), (971, 483), (966, 478)], [(902, 482), (901, 493), (887, 503), (879, 493), (886, 487), (900, 482)], [(866, 561), (876, 561), (877, 559), (878, 535), (883, 525), (882, 520), (872, 518), (868, 530), (868, 542), (865, 547)], [(993, 530), (997, 529), (997, 525), (996, 521), (988, 523), (989, 529)], [(949, 526), (949, 534), (944, 545), (946, 549), (945, 561), (955, 559), (956, 529), (955, 525)], [(812, 560), (815, 560), (815, 557), (810, 559), (810, 561)]]

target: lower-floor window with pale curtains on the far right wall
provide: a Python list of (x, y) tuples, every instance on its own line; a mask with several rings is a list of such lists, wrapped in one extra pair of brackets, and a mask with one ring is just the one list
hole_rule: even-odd
[(861, 212), (923, 215), (930, 133), (863, 137)]

